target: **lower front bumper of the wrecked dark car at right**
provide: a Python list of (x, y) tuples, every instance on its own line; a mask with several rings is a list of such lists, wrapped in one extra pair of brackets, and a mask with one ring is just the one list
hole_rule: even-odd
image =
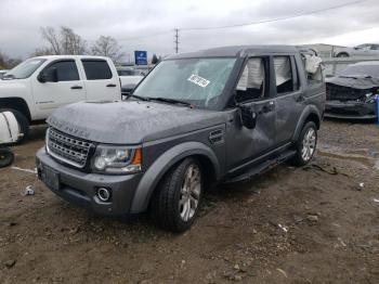
[(326, 101), (325, 117), (347, 119), (375, 119), (376, 104), (364, 102)]

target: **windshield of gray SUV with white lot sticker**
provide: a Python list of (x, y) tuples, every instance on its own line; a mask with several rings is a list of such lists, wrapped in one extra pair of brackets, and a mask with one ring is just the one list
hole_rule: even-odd
[(135, 89), (144, 98), (165, 98), (212, 108), (231, 75), (235, 59), (181, 59), (159, 63)]

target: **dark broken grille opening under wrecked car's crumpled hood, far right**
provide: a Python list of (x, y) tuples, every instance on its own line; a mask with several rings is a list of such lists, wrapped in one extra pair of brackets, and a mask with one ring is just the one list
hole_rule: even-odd
[(354, 89), (350, 87), (337, 86), (334, 83), (327, 83), (326, 86), (326, 99), (337, 101), (356, 101), (364, 100), (365, 94), (369, 90), (367, 89)]

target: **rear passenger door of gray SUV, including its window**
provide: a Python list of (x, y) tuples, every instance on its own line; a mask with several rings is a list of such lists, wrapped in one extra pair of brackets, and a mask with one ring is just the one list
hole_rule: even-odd
[(289, 142), (304, 107), (304, 94), (292, 55), (273, 56), (275, 72), (276, 146)]

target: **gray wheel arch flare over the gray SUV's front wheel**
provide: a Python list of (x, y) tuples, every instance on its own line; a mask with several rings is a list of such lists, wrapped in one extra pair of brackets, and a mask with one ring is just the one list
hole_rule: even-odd
[(220, 164), (213, 151), (200, 142), (185, 142), (171, 147), (167, 152), (157, 158), (153, 165), (143, 175), (135, 194), (133, 197), (131, 214), (138, 214), (145, 211), (148, 206), (148, 202), (158, 182), (164, 175), (181, 159), (193, 156), (201, 155), (209, 158), (213, 165), (215, 178), (220, 178)]

